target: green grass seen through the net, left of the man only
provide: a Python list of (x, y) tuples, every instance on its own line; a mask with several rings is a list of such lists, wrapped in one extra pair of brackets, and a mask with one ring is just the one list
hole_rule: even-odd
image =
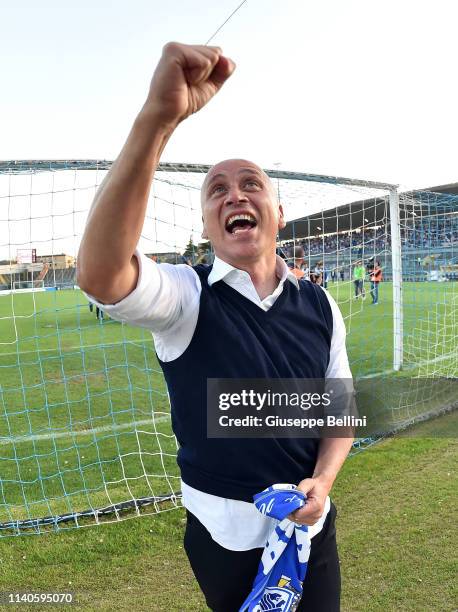
[(179, 488), (151, 335), (100, 324), (79, 291), (3, 296), (0, 309), (0, 521)]

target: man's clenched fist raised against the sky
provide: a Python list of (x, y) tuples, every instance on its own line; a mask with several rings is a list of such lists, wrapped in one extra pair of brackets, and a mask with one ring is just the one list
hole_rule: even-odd
[(168, 43), (154, 72), (146, 101), (166, 124), (177, 125), (200, 110), (235, 69), (219, 47)]

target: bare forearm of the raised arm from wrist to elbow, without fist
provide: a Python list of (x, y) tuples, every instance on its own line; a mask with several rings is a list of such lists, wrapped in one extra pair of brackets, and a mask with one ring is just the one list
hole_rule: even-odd
[[(140, 238), (154, 172), (173, 132), (145, 106), (138, 115), (90, 210), (78, 255), (78, 279), (88, 292), (110, 293), (126, 269)], [(134, 273), (132, 272), (132, 282)], [(129, 293), (133, 287), (117, 288)], [(99, 295), (96, 297), (109, 298)], [(122, 295), (116, 296), (118, 299)]]

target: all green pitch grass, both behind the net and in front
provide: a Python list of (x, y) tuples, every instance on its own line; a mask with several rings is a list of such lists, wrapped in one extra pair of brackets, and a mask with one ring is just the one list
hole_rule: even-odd
[[(380, 385), (392, 363), (391, 286), (376, 307), (352, 300), (352, 290), (330, 287), (352, 370)], [(405, 283), (403, 291), (406, 369), (397, 376), (456, 376), (458, 288)], [(69, 290), (0, 296), (0, 338), (0, 522), (179, 488), (149, 333), (99, 323)], [(333, 491), (344, 611), (456, 610), (456, 439), (444, 435), (457, 425), (452, 413), (416, 427), (421, 438), (408, 430), (347, 460)], [(182, 549), (182, 508), (110, 519), (0, 537), (0, 591), (72, 591), (85, 610), (206, 610)]]

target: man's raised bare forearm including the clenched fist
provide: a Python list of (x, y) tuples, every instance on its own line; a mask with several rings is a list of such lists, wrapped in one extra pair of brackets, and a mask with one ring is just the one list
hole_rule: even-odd
[(89, 213), (78, 254), (78, 284), (101, 302), (128, 295), (138, 278), (133, 256), (151, 182), (175, 127), (221, 89), (235, 65), (219, 47), (168, 43), (146, 103)]

